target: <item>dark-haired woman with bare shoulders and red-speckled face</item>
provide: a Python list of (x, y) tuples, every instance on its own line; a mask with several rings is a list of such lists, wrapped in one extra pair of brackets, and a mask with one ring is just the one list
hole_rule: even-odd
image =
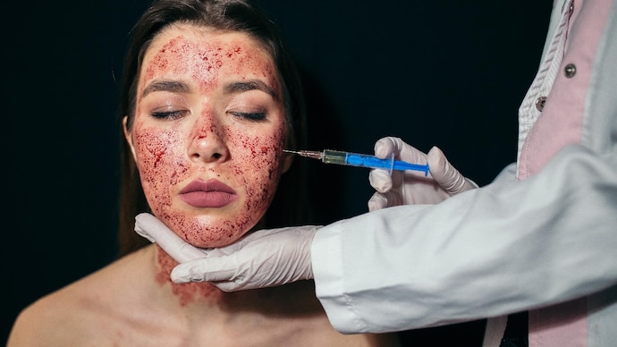
[(121, 97), (126, 255), (21, 312), (9, 346), (398, 343), (336, 332), (309, 281), (242, 292), (173, 284), (173, 258), (127, 236), (139, 212), (199, 248), (273, 225), (270, 207), (296, 216), (281, 194), (298, 199), (293, 182), (279, 182), (292, 174), (283, 148), (302, 139), (301, 90), (263, 13), (244, 1), (155, 2), (134, 29)]

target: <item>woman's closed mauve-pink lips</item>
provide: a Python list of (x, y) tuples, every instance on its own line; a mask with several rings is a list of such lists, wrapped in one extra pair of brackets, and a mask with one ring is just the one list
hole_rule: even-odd
[(180, 199), (192, 207), (224, 207), (238, 199), (232, 187), (217, 180), (195, 180), (180, 190)]

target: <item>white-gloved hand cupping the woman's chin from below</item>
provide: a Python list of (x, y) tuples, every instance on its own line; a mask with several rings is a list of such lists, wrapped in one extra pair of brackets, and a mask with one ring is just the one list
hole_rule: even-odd
[(210, 282), (224, 292), (264, 288), (313, 278), (310, 245), (319, 226), (259, 230), (229, 246), (198, 249), (147, 213), (135, 217), (135, 231), (158, 243), (181, 263), (176, 284)]

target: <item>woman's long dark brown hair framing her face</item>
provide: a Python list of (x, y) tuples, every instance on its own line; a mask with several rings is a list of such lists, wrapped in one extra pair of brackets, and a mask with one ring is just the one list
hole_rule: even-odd
[[(152, 3), (131, 30), (131, 40), (124, 57), (120, 90), (120, 119), (127, 116), (131, 130), (137, 93), (137, 82), (143, 55), (152, 39), (174, 22), (190, 23), (217, 30), (240, 31), (256, 38), (273, 57), (283, 84), (285, 115), (290, 124), (290, 148), (306, 145), (306, 112), (300, 74), (292, 56), (283, 44), (283, 38), (273, 21), (254, 4), (243, 0), (159, 0)], [(122, 134), (122, 122), (119, 122)], [(119, 201), (119, 249), (123, 256), (149, 242), (134, 232), (135, 216), (150, 212), (141, 189), (139, 171), (131, 150), (121, 139), (121, 177)], [(266, 227), (308, 224), (312, 214), (308, 203), (307, 170), (304, 161), (295, 160), (292, 168), (283, 174), (271, 206), (266, 212)]]

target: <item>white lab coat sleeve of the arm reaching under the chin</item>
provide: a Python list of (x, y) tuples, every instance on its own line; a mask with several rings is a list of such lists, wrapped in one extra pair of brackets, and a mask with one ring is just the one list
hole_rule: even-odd
[[(566, 5), (557, 3), (555, 12)], [(389, 207), (317, 231), (317, 296), (337, 330), (440, 326), (586, 298), (587, 345), (617, 345), (617, 6), (610, 8), (580, 143), (524, 180), (513, 163), (491, 184), (438, 205)]]

